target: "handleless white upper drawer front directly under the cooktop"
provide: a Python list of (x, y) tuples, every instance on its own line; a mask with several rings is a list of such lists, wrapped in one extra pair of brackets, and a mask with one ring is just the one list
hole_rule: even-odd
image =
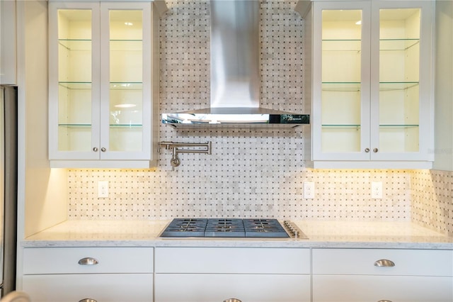
[(156, 247), (156, 273), (310, 274), (309, 249)]

